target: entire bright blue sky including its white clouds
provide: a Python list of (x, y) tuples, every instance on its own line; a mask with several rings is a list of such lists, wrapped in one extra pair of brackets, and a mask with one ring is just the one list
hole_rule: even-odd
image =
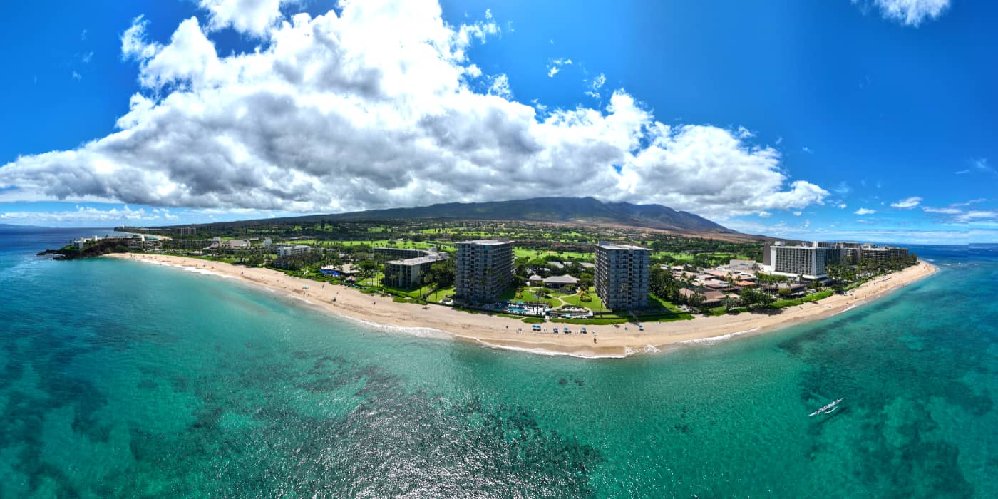
[(591, 195), (998, 241), (998, 5), (625, 4), (11, 5), (0, 224)]

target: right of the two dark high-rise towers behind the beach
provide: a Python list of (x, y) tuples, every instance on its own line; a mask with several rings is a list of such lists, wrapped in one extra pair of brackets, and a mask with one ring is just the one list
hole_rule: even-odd
[(611, 310), (648, 306), (651, 250), (600, 243), (596, 245), (596, 295)]

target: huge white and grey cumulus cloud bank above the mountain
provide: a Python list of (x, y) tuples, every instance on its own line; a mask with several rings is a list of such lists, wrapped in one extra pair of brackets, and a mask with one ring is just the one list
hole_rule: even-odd
[(274, 5), (260, 12), (276, 22), (229, 21), (264, 26), (266, 41), (228, 56), (214, 17), (184, 20), (167, 43), (136, 19), (122, 52), (142, 90), (118, 130), (0, 168), (0, 202), (331, 213), (592, 195), (725, 219), (828, 196), (737, 129), (663, 124), (624, 89), (600, 109), (538, 115), (467, 58), (498, 33), (491, 19), (452, 26), (430, 0), (290, 19)]

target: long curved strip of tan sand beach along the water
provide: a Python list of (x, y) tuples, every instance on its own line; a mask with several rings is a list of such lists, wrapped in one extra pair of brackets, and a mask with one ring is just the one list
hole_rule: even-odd
[(423, 306), (399, 303), (392, 301), (391, 296), (364, 294), (351, 287), (292, 277), (269, 268), (250, 268), (166, 254), (113, 253), (106, 256), (236, 278), (251, 285), (283, 292), (326, 313), (351, 318), (367, 326), (401, 328), (409, 331), (407, 333), (439, 331), (441, 336), (489, 348), (584, 358), (624, 358), (638, 352), (654, 353), (683, 345), (710, 344), (820, 320), (869, 303), (938, 270), (935, 265), (920, 260), (916, 265), (882, 275), (856, 287), (850, 291), (851, 295), (833, 294), (818, 301), (781, 308), (780, 313), (743, 312), (738, 315), (696, 316), (693, 320), (643, 322), (644, 331), (639, 331), (632, 323), (617, 326), (587, 325), (589, 334), (579, 333), (582, 326), (577, 324), (541, 324), (548, 329), (555, 324), (558, 327), (568, 326), (573, 331), (571, 334), (554, 334), (532, 331), (532, 324), (519, 319), (470, 313), (438, 304)]

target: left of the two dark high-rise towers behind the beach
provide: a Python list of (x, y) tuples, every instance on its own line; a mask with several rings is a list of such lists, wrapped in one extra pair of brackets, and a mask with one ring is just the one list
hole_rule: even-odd
[(513, 242), (479, 240), (457, 244), (454, 293), (468, 301), (488, 301), (513, 280)]

